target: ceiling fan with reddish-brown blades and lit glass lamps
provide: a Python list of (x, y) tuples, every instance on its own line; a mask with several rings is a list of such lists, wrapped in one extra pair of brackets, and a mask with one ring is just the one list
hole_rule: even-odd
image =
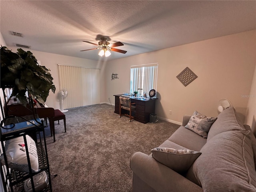
[(123, 53), (123, 54), (125, 54), (127, 52), (127, 51), (124, 51), (124, 50), (114, 48), (114, 47), (118, 47), (118, 46), (123, 46), (124, 44), (122, 44), (121, 42), (115, 42), (115, 43), (110, 44), (107, 41), (107, 38), (102, 37), (100, 39), (101, 39), (101, 41), (98, 42), (98, 45), (95, 44), (95, 43), (89, 42), (89, 41), (83, 41), (83, 42), (86, 42), (86, 43), (96, 45), (96, 46), (98, 46), (98, 48), (86, 49), (86, 50), (81, 50), (81, 51), (101, 49), (100, 52), (99, 52), (99, 55), (100, 56), (105, 56), (105, 57), (108, 57), (108, 56), (111, 55), (110, 51), (115, 51), (115, 52), (119, 52), (119, 53)]

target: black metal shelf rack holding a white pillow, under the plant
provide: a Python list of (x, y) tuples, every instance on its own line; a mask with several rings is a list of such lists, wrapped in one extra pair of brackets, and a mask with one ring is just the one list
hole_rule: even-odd
[[(26, 116), (26, 118), (14, 117), (14, 118), (11, 118), (12, 120), (10, 122), (15, 124), (15, 123), (17, 123), (17, 121), (21, 122), (22, 120), (24, 120), (24, 119), (27, 120), (28, 118), (31, 118), (31, 117), (27, 117), (27, 116)], [(16, 119), (16, 121), (15, 121), (15, 119)], [(28, 121), (31, 121), (31, 119)], [(40, 132), (43, 132), (43, 134), (40, 134)], [(5, 178), (2, 176), (5, 192), (9, 192), (9, 191), (24, 192), (25, 191), (24, 190), (25, 180), (27, 180), (27, 179), (33, 180), (33, 176), (35, 176), (36, 174), (39, 174), (40, 172), (43, 172), (43, 171), (45, 171), (48, 176), (48, 186), (41, 191), (42, 192), (52, 191), (45, 133), (44, 133), (44, 127), (42, 124), (39, 124), (38, 126), (33, 126), (33, 127), (26, 128), (26, 129), (22, 129), (22, 130), (15, 130), (14, 132), (7, 132), (4, 134), (2, 134), (2, 132), (1, 132), (0, 136), (1, 136), (1, 144), (2, 144), (2, 148), (3, 148), (2, 153), (4, 154), (4, 156), (6, 156), (4, 147), (3, 147), (4, 141), (10, 140), (12, 138), (16, 138), (19, 136), (26, 137), (26, 135), (29, 135), (30, 133), (33, 133), (34, 137), (35, 137), (34, 141), (36, 142), (39, 171), (32, 172), (32, 170), (30, 170), (30, 172), (19, 172), (19, 171), (10, 170), (8, 167), (7, 159), (5, 159), (5, 165), (1, 164), (1, 174), (5, 174)], [(43, 138), (43, 140), (41, 137)], [(44, 145), (42, 144), (42, 142), (44, 142)], [(27, 145), (26, 142), (25, 142), (25, 145)], [(28, 152), (26, 152), (26, 153), (27, 153), (27, 158), (28, 158)], [(31, 169), (30, 161), (28, 161), (28, 164)]]

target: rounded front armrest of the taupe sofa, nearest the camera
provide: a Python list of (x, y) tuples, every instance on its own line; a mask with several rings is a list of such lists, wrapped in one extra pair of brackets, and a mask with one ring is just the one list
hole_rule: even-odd
[(157, 192), (202, 192), (202, 188), (174, 170), (156, 161), (152, 155), (136, 152), (130, 168), (142, 181)]

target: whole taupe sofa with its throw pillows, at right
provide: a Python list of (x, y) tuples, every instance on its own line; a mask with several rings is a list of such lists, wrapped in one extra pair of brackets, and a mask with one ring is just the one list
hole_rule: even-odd
[(256, 138), (233, 107), (216, 118), (185, 115), (170, 138), (152, 147), (150, 155), (130, 159), (133, 192), (256, 192)]

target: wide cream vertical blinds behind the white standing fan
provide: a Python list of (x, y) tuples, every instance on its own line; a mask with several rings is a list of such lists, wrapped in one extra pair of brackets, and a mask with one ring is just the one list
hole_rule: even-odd
[(100, 103), (100, 70), (58, 65), (60, 90), (67, 88), (63, 108), (75, 108)]

